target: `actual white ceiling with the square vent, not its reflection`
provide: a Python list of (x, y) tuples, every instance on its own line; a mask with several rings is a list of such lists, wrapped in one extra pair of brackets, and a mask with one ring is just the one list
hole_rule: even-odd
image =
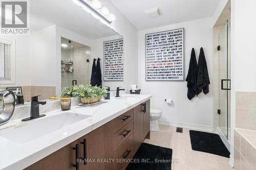
[[(137, 30), (214, 15), (220, 0), (111, 0)], [(147, 17), (144, 10), (158, 7), (161, 15)]]

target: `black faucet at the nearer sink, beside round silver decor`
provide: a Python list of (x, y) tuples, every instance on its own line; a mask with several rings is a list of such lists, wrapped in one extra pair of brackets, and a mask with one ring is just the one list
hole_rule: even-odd
[(44, 101), (38, 101), (38, 96), (32, 96), (31, 98), (31, 107), (30, 107), (30, 117), (22, 119), (22, 121), (32, 120), (35, 118), (39, 118), (42, 116), (45, 116), (45, 114), (39, 114), (39, 105), (45, 105), (46, 102)]

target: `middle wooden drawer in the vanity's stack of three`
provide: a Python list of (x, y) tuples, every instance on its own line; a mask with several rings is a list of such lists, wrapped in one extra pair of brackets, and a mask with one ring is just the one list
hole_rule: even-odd
[(133, 133), (133, 121), (114, 134), (114, 149), (116, 150)]

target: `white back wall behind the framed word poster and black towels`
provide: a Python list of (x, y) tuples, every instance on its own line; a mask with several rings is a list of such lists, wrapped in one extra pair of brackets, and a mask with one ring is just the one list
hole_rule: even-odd
[[(200, 47), (204, 48), (210, 81), (212, 80), (212, 18), (177, 23), (138, 32), (138, 85), (142, 93), (153, 94), (151, 107), (163, 112), (160, 122), (169, 125), (212, 130), (212, 86), (210, 92), (203, 92), (193, 100), (187, 99), (186, 81), (145, 81), (145, 34), (184, 28), (185, 78), (188, 71), (191, 48), (195, 48), (198, 59)], [(167, 105), (164, 99), (172, 99)]]

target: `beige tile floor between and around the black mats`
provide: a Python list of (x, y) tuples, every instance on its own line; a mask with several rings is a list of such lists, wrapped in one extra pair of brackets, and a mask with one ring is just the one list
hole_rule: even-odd
[(172, 163), (172, 170), (233, 170), (229, 158), (193, 151), (189, 129), (177, 133), (176, 127), (160, 125), (160, 131), (150, 135), (151, 139), (144, 142), (173, 149), (173, 159), (179, 159), (179, 163)]

